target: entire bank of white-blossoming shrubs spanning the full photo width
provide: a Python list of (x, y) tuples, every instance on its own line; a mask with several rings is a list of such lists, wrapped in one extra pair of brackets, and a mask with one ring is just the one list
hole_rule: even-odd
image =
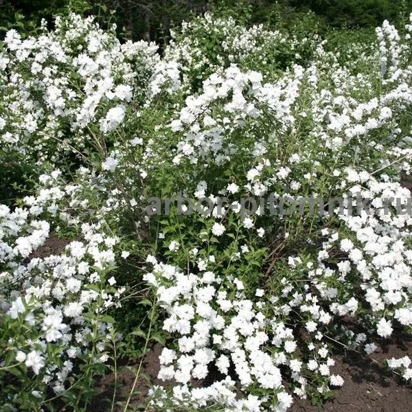
[[(155, 411), (283, 412), (295, 397), (325, 399), (344, 384), (336, 346), (369, 356), (396, 330), (410, 333), (412, 216), (400, 207), (411, 193), (400, 177), (412, 170), (412, 15), (402, 34), (387, 22), (376, 32), (376, 45), (353, 45), (358, 57), (347, 64), (320, 39), (303, 41), (303, 56), (299, 39), (210, 15), (185, 25), (163, 57), (75, 15), (38, 38), (9, 32), (2, 90), (15, 92), (1, 139), (39, 163), (38, 152), (49, 153), (56, 170), (22, 208), (0, 209), (0, 378), (14, 374), (45, 408), (46, 387), (76, 391), (72, 371), (92, 376), (106, 361), (116, 334), (106, 312), (124, 293), (115, 284), (128, 282), (114, 266), (131, 258), (159, 314), (139, 334), (165, 342)], [(29, 76), (27, 62), (41, 74)], [(57, 170), (49, 133), (84, 161), (73, 181)], [(179, 193), (216, 207), (148, 216), (148, 198)], [(233, 207), (269, 194), (343, 197), (344, 213), (243, 216)], [(227, 197), (222, 210), (218, 196)], [(369, 214), (356, 212), (360, 199)], [(33, 258), (52, 231), (71, 242)], [(411, 379), (409, 358), (388, 366)], [(21, 389), (3, 387), (12, 410)]]

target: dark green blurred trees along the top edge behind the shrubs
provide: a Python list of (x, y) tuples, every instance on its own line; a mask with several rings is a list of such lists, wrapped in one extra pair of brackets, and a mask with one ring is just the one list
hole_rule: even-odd
[(36, 30), (41, 19), (70, 8), (117, 23), (119, 36), (168, 42), (170, 28), (205, 11), (231, 14), (243, 23), (273, 29), (324, 32), (330, 28), (371, 29), (388, 19), (407, 19), (412, 0), (0, 0), (0, 26)]

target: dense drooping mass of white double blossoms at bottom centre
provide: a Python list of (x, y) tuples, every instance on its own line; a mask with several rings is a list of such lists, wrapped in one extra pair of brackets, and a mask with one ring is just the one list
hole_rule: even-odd
[[(260, 411), (266, 402), (258, 396), (249, 393), (246, 399), (236, 399), (229, 374), (233, 367), (242, 391), (248, 391), (256, 382), (271, 389), (273, 410), (286, 411), (292, 398), (284, 391), (279, 365), (289, 363), (297, 372), (301, 368), (300, 361), (287, 360), (287, 354), (297, 347), (292, 330), (283, 323), (268, 322), (262, 302), (245, 298), (240, 279), (227, 282), (212, 271), (185, 274), (179, 268), (158, 263), (153, 256), (148, 262), (154, 269), (144, 278), (157, 289), (160, 305), (168, 312), (163, 330), (180, 336), (177, 352), (165, 347), (160, 356), (159, 378), (178, 384), (173, 389), (174, 402), (186, 400), (197, 408), (218, 402), (228, 411)], [(275, 328), (275, 335), (268, 336), (268, 326)], [(284, 346), (285, 352), (273, 356), (265, 350), (270, 341)], [(192, 379), (205, 379), (211, 363), (222, 379), (211, 387), (191, 391), (187, 384)]]

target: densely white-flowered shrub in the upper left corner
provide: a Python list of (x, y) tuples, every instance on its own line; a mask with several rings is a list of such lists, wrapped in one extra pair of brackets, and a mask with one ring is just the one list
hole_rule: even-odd
[(2, 150), (38, 165), (104, 152), (125, 104), (144, 101), (159, 60), (154, 43), (120, 44), (115, 27), (104, 32), (92, 17), (69, 14), (55, 25), (38, 38), (10, 30), (0, 55)]

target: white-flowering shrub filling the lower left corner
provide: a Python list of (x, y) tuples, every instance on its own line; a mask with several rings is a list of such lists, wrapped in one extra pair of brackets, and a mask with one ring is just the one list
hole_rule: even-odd
[(83, 404), (82, 384), (102, 373), (113, 339), (106, 310), (122, 293), (109, 275), (116, 239), (84, 224), (84, 240), (36, 258), (49, 223), (24, 209), (0, 212), (2, 407), (34, 410), (54, 396), (77, 400), (79, 393)]

